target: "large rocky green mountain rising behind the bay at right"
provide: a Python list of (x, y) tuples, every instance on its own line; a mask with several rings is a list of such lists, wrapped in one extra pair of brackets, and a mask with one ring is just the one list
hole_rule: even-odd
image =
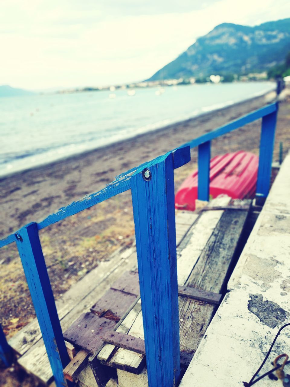
[(290, 18), (249, 27), (223, 23), (148, 80), (262, 72), (290, 51)]

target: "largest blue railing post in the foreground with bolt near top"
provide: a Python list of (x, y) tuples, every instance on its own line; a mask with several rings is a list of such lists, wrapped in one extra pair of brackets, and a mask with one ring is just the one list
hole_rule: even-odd
[(174, 168), (189, 160), (189, 147), (179, 149), (131, 177), (149, 387), (180, 376)]

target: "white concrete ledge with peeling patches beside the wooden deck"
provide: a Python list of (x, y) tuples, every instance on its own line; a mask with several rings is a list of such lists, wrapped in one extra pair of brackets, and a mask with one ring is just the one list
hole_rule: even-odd
[[(279, 328), (290, 322), (290, 155), (285, 158), (181, 387), (242, 386), (260, 366)], [(285, 328), (260, 372), (290, 355)], [(287, 368), (288, 367), (288, 368)], [(290, 374), (290, 366), (286, 366)], [(268, 377), (257, 385), (273, 386)], [(279, 383), (279, 382), (276, 382)]]

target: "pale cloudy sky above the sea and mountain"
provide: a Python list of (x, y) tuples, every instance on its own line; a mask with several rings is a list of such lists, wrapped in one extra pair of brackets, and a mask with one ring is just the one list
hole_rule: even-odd
[(140, 81), (218, 24), (289, 16), (289, 0), (0, 0), (0, 85)]

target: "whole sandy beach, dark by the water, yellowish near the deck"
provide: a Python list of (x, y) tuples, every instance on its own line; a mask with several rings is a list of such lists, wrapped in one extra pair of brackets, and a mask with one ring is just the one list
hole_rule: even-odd
[[(265, 103), (265, 97), (261, 96), (111, 146), (2, 178), (0, 238), (31, 221), (41, 221), (51, 212), (90, 192), (100, 190), (119, 173), (258, 109)], [(212, 156), (239, 149), (258, 154), (260, 127), (259, 120), (214, 140)], [(280, 104), (274, 160), (278, 160), (280, 142), (283, 142), (284, 154), (290, 149), (289, 127), (288, 101)], [(176, 188), (196, 167), (196, 160), (197, 152), (193, 149), (191, 163), (175, 172)], [(42, 230), (41, 243), (55, 297), (61, 296), (120, 245), (130, 245), (133, 235), (130, 191)], [(35, 316), (14, 244), (0, 250), (0, 267), (1, 323), (5, 334), (12, 336)]]

